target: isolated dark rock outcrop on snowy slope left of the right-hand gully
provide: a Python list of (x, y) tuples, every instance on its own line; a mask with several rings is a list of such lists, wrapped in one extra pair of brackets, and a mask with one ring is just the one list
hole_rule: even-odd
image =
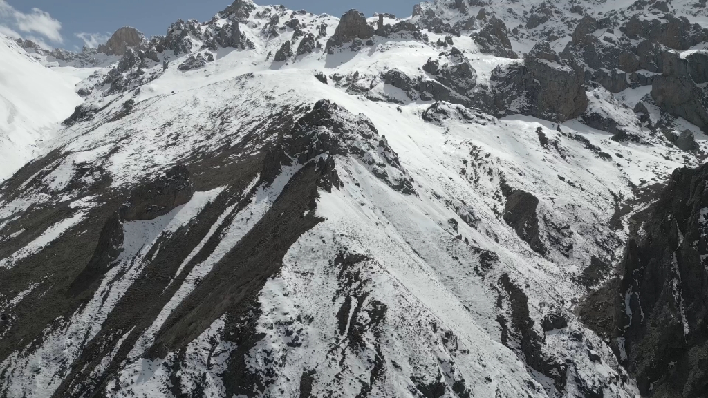
[(533, 251), (544, 255), (548, 249), (539, 237), (537, 206), (538, 199), (534, 195), (526, 191), (513, 191), (506, 198), (503, 218)]

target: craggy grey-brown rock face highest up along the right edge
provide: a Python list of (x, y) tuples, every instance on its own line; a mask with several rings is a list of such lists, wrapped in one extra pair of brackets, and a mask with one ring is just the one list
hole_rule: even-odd
[(707, 34), (698, 24), (693, 24), (685, 18), (676, 18), (671, 14), (664, 14), (662, 20), (640, 20), (632, 16), (619, 30), (629, 38), (644, 38), (651, 42), (666, 45), (676, 50), (687, 50), (693, 45), (706, 40)]

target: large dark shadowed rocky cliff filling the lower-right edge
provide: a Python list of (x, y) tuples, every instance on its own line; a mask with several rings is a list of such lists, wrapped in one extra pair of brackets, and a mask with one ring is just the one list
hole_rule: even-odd
[(610, 310), (609, 319), (590, 324), (612, 334), (643, 396), (707, 391), (707, 183), (706, 165), (675, 170), (656, 204), (634, 216), (644, 232), (629, 240), (619, 275), (583, 304)]

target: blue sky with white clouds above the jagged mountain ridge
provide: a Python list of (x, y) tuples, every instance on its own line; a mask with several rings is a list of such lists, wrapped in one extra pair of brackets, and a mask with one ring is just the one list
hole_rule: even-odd
[[(339, 16), (357, 8), (410, 16), (421, 0), (256, 0), (257, 4), (283, 4), (312, 13)], [(206, 21), (229, 5), (229, 0), (0, 0), (0, 33), (40, 42), (46, 47), (96, 46), (111, 33), (131, 25), (147, 36), (164, 35), (178, 18)]]

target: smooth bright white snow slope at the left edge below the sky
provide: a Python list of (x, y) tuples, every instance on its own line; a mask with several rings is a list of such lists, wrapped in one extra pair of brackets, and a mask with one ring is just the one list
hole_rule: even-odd
[(81, 79), (42, 67), (13, 40), (0, 35), (0, 181), (33, 157), (35, 147), (57, 130), (81, 98)]

